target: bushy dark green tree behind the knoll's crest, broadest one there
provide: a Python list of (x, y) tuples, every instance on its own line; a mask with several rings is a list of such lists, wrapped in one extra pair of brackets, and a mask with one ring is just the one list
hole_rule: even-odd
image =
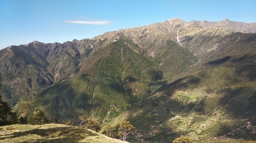
[(34, 111), (29, 117), (28, 117), (28, 124), (31, 125), (42, 125), (45, 123), (49, 123), (46, 115), (42, 110)]

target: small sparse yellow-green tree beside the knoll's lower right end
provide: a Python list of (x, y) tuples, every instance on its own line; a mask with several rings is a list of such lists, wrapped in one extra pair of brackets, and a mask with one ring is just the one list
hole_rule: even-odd
[(122, 122), (119, 126), (118, 136), (121, 136), (121, 139), (125, 141), (128, 135), (134, 134), (136, 132), (137, 130), (134, 128), (134, 126), (132, 126), (129, 121), (124, 120), (124, 122)]

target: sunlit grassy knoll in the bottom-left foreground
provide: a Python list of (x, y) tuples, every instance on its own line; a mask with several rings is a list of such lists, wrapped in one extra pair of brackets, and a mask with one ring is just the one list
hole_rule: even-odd
[(8, 125), (0, 127), (0, 142), (123, 142), (92, 130), (65, 126)]

